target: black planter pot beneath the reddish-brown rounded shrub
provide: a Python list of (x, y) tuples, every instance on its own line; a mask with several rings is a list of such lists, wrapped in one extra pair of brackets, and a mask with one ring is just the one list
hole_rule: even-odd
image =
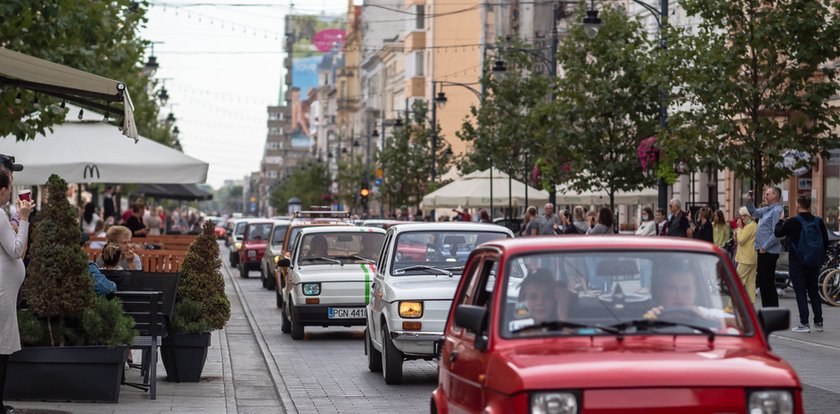
[(166, 368), (166, 380), (173, 382), (198, 382), (207, 360), (210, 332), (198, 334), (172, 334), (163, 338), (160, 357)]

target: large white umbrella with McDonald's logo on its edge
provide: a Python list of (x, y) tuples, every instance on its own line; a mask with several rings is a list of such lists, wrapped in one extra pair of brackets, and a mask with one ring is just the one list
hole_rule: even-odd
[[(139, 137), (126, 140), (119, 128), (102, 122), (102, 115), (67, 105), (68, 122), (34, 140), (0, 139), (0, 154), (15, 157), (23, 171), (15, 185), (43, 185), (50, 174), (71, 183), (195, 184), (207, 179), (208, 164), (180, 151)], [(71, 121), (72, 119), (72, 121)], [(92, 121), (95, 119), (96, 121)]]

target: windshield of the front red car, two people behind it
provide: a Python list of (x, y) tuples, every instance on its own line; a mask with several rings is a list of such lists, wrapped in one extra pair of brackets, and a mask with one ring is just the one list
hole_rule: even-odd
[(505, 273), (508, 338), (753, 332), (741, 297), (729, 293), (737, 278), (711, 254), (540, 253), (509, 259)]

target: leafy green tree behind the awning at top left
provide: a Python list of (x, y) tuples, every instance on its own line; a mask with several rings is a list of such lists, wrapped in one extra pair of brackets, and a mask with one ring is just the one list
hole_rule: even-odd
[[(18, 0), (0, 4), (0, 46), (125, 83), (134, 103), (138, 132), (174, 146), (169, 125), (158, 120), (155, 81), (142, 73), (148, 42), (138, 31), (146, 22), (145, 4), (131, 0), (84, 2)], [(21, 103), (15, 97), (21, 94)], [(38, 98), (40, 109), (35, 108)], [(0, 91), (0, 136), (34, 139), (63, 122), (58, 98), (31, 91)], [(75, 114), (70, 114), (75, 116)], [(118, 121), (118, 120), (114, 120)]]

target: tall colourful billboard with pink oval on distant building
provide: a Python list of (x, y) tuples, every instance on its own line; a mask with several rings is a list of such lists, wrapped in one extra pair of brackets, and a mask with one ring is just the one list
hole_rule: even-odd
[(334, 75), (335, 68), (341, 64), (344, 20), (335, 16), (287, 16), (286, 33), (292, 37), (291, 143), (292, 147), (309, 148), (313, 143), (310, 108), (314, 94), (311, 92), (322, 83), (319, 79)]

